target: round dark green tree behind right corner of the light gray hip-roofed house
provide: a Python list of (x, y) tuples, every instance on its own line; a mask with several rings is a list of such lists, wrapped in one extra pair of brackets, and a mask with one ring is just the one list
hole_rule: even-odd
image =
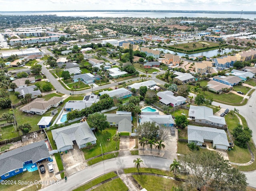
[(88, 115), (87, 122), (90, 128), (94, 128), (95, 130), (102, 131), (109, 128), (107, 117), (99, 112)]

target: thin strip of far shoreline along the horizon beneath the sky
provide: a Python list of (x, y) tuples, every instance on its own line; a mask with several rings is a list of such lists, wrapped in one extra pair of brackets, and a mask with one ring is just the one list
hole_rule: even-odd
[(2, 13), (17, 13), (17, 12), (159, 12), (159, 13), (201, 13), (201, 14), (256, 14), (256, 11), (206, 11), (206, 10), (55, 10), (55, 11), (0, 11)]

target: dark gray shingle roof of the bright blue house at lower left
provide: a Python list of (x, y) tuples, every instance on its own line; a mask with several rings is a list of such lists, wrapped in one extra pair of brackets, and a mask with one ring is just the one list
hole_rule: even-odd
[(44, 140), (35, 142), (0, 155), (0, 175), (23, 167), (23, 162), (33, 163), (50, 157)]

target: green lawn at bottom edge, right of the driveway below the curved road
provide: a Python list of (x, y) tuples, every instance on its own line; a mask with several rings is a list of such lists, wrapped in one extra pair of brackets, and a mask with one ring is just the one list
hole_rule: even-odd
[(150, 175), (133, 175), (133, 177), (147, 191), (170, 191), (173, 186), (177, 187), (182, 184), (181, 181)]

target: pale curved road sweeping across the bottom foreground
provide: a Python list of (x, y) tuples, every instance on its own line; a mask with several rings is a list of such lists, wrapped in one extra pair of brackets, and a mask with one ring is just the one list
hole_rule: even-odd
[(66, 181), (62, 179), (59, 185), (49, 185), (40, 190), (41, 191), (55, 191), (55, 190), (70, 191), (105, 173), (116, 171), (118, 169), (134, 167), (133, 160), (136, 158), (142, 159), (144, 165), (141, 164), (141, 167), (152, 167), (152, 168), (164, 169), (164, 170), (169, 170), (170, 164), (173, 161), (173, 159), (168, 160), (168, 159), (164, 159), (160, 157), (158, 158), (154, 156), (124, 156), (124, 157), (108, 159), (106, 161), (96, 163), (95, 165), (87, 167), (86, 169), (83, 169), (81, 171), (78, 171), (77, 173), (71, 175), (70, 177), (67, 177)]

